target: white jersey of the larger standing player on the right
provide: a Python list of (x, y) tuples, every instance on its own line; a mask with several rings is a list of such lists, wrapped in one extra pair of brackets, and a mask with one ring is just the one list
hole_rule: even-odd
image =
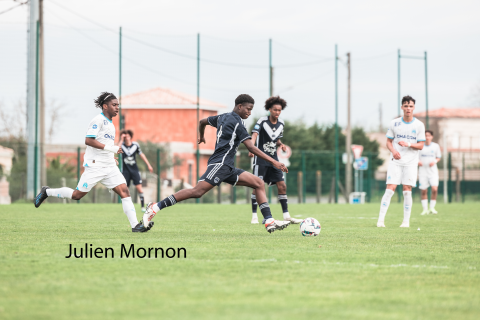
[(417, 143), (425, 141), (425, 126), (417, 118), (410, 122), (405, 122), (403, 117), (393, 119), (388, 126), (387, 138), (393, 139), (393, 148), (400, 153), (400, 160), (392, 156), (392, 163), (399, 166), (418, 166), (419, 150), (409, 147), (402, 147), (400, 141)]

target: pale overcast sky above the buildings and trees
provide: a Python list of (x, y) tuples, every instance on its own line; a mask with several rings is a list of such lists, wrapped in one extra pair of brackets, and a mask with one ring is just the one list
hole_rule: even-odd
[[(428, 105), (475, 107), (480, 84), (480, 1), (153, 1), (45, 0), (45, 95), (63, 105), (52, 142), (82, 143), (99, 112), (93, 99), (167, 87), (196, 95), (200, 34), (200, 96), (233, 108), (238, 94), (264, 115), (269, 95), (269, 39), (274, 94), (287, 100), (288, 121), (347, 121), (346, 53), (351, 54), (352, 124), (374, 130), (397, 116), (397, 50), (428, 54)], [(15, 6), (0, 0), (0, 12)], [(28, 7), (0, 14), (0, 102), (15, 113), (25, 101)], [(401, 59), (401, 95), (426, 106), (424, 60)], [(49, 126), (47, 116), (47, 127)]]

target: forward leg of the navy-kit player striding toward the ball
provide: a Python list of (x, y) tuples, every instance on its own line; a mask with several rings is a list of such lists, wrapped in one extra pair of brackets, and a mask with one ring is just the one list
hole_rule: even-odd
[(265, 228), (267, 229), (267, 231), (271, 233), (275, 230), (283, 230), (284, 228), (286, 228), (290, 224), (290, 221), (279, 221), (273, 219), (272, 217), (272, 212), (270, 211), (270, 206), (267, 202), (265, 183), (263, 182), (263, 180), (241, 169), (235, 170), (237, 173), (225, 179), (225, 182), (233, 184), (234, 186), (237, 185), (250, 187), (255, 190), (257, 202), (259, 203), (260, 211), (262, 212), (265, 221)]

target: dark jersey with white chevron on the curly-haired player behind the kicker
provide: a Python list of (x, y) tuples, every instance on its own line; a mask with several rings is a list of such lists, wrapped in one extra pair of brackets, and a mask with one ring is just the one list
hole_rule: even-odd
[[(267, 156), (278, 161), (277, 141), (283, 138), (283, 127), (285, 123), (278, 119), (276, 124), (270, 122), (270, 117), (261, 117), (253, 127), (252, 133), (258, 133), (256, 147)], [(273, 167), (273, 165), (257, 156), (253, 158), (254, 165)]]

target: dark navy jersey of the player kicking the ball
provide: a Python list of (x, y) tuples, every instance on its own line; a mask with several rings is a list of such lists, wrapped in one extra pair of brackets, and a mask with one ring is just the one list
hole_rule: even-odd
[(251, 139), (245, 124), (235, 112), (208, 117), (208, 123), (217, 128), (217, 141), (208, 164), (221, 163), (234, 168), (234, 158), (240, 143)]

